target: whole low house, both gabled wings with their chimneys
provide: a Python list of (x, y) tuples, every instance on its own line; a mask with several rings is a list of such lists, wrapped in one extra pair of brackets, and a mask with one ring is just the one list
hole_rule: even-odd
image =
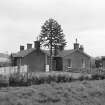
[[(40, 49), (39, 41), (35, 41), (34, 48), (32, 44), (27, 44), (27, 49), (20, 46), (20, 51), (11, 55), (12, 65), (28, 65), (30, 71), (48, 71), (49, 51)], [(68, 69), (90, 69), (90, 56), (84, 52), (83, 46), (74, 43), (74, 49), (57, 51), (53, 57), (53, 70), (67, 71)]]

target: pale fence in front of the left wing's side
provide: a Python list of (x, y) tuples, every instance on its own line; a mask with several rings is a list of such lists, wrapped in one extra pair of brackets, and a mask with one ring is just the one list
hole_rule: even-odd
[(10, 67), (0, 67), (0, 75), (11, 75), (14, 73), (27, 73), (28, 72), (28, 66), (10, 66)]

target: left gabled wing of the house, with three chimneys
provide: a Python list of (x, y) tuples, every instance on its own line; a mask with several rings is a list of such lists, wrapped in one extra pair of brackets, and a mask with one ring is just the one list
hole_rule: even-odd
[(19, 52), (11, 54), (11, 61), (12, 66), (28, 65), (32, 72), (43, 72), (49, 65), (49, 53), (41, 50), (39, 41), (35, 41), (34, 48), (32, 48), (32, 44), (27, 44), (27, 49), (20, 46)]

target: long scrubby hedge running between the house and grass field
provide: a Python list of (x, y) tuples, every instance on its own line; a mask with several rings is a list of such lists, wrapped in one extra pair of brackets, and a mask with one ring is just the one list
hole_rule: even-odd
[(49, 72), (49, 73), (33, 73), (27, 75), (14, 74), (9, 78), (10, 86), (29, 86), (29, 85), (40, 85), (44, 83), (61, 83), (61, 82), (71, 82), (71, 81), (83, 81), (83, 80), (99, 80), (105, 79), (105, 75), (100, 74), (82, 74), (75, 78), (68, 72)]

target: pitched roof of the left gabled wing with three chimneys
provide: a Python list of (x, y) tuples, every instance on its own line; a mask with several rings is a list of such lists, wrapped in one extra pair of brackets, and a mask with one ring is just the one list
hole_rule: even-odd
[[(12, 56), (13, 57), (25, 57), (26, 55), (30, 54), (31, 52), (35, 51), (35, 48), (31, 48), (31, 49), (26, 49), (23, 51), (19, 51), (17, 53), (13, 53)], [(49, 55), (49, 51), (48, 50), (41, 50), (43, 53)]]

